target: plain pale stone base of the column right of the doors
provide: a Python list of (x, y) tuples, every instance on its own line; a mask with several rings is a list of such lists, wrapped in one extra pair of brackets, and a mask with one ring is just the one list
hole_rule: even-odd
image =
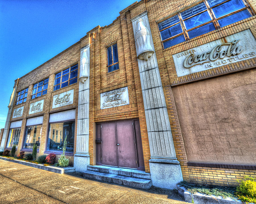
[(179, 164), (149, 162), (152, 186), (177, 189), (177, 183), (183, 181)]

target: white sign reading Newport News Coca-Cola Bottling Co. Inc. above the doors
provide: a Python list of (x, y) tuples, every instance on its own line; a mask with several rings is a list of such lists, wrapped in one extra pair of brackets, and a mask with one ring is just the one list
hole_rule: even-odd
[(100, 94), (100, 109), (129, 104), (128, 87), (107, 91)]

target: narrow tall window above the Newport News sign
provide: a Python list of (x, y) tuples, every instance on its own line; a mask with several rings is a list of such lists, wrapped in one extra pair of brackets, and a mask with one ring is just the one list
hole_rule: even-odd
[(108, 58), (108, 72), (119, 69), (118, 54), (117, 54), (117, 43), (107, 47), (107, 58)]

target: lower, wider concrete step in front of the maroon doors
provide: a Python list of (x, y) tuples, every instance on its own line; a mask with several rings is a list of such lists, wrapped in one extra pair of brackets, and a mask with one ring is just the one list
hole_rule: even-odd
[(103, 173), (99, 171), (84, 171), (83, 176), (86, 178), (100, 180), (120, 185), (125, 185), (134, 188), (148, 189), (151, 187), (151, 180), (144, 178), (134, 178), (119, 174)]

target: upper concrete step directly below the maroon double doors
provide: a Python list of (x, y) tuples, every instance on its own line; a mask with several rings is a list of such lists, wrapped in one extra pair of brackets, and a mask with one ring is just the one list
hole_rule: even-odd
[(89, 165), (87, 167), (87, 170), (90, 171), (98, 171), (102, 173), (109, 173), (109, 174), (117, 174), (121, 176), (129, 176), (129, 177), (134, 177), (134, 178), (144, 178), (150, 180), (150, 173), (146, 173), (144, 171), (139, 171), (136, 169), (123, 169), (123, 168), (118, 168), (118, 167), (108, 167), (108, 166), (91, 166)]

